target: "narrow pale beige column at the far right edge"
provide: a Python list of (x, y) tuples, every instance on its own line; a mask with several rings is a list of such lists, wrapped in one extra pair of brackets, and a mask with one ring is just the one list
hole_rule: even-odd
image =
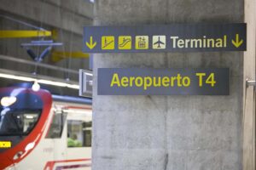
[[(244, 82), (256, 78), (256, 2), (245, 0), (247, 51), (244, 54)], [(255, 88), (244, 86), (243, 169), (255, 170)], [(253, 111), (254, 109), (254, 111)]]

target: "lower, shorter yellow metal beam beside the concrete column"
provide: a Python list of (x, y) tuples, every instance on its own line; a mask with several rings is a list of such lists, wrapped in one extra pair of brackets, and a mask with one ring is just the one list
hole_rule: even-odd
[(66, 51), (53, 51), (51, 53), (51, 60), (53, 62), (58, 62), (61, 59), (67, 59), (67, 58), (77, 58), (77, 59), (86, 59), (89, 58), (89, 54), (84, 54), (81, 51), (72, 51), (72, 52), (66, 52)]

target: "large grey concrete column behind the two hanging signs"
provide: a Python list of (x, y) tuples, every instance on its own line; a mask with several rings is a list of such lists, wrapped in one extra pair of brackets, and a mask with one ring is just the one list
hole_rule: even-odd
[[(96, 26), (243, 22), (242, 0), (98, 0)], [(95, 54), (97, 68), (230, 68), (229, 96), (93, 94), (93, 170), (241, 170), (242, 52)]]

